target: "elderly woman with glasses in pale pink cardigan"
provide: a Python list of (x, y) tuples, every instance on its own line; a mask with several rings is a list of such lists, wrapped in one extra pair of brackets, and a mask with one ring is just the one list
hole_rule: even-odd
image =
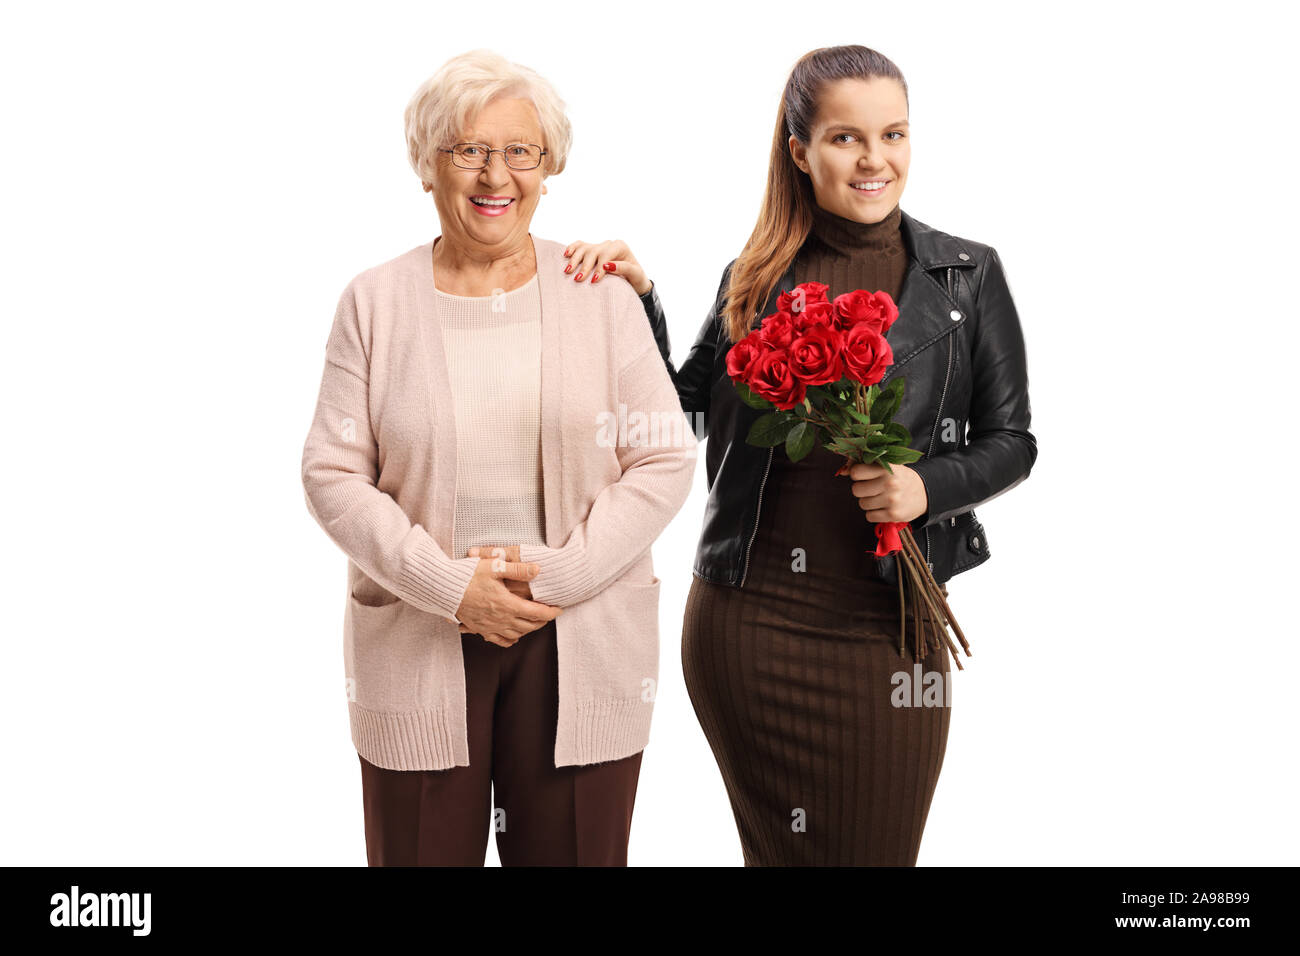
[[(658, 679), (650, 545), (696, 438), (627, 282), (529, 222), (563, 103), (485, 51), (406, 111), (441, 234), (343, 290), (306, 447), (348, 557), (370, 865), (625, 865)], [(618, 423), (618, 424), (615, 424)], [(650, 423), (649, 425), (646, 423)]]

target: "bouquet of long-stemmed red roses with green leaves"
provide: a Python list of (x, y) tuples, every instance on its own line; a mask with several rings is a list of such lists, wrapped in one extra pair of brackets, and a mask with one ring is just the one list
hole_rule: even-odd
[[(897, 377), (880, 388), (893, 364), (884, 333), (898, 319), (898, 307), (888, 293), (864, 289), (831, 302), (826, 297), (828, 287), (823, 282), (801, 282), (783, 291), (776, 312), (727, 352), (727, 375), (741, 401), (751, 408), (772, 410), (754, 421), (746, 441), (762, 447), (784, 444), (786, 455), (797, 462), (820, 440), (823, 447), (848, 459), (845, 467), (876, 462), (893, 473), (890, 466), (922, 457), (910, 447), (907, 428), (893, 420), (902, 405), (904, 380)], [(970, 645), (913, 537), (911, 524), (878, 523), (876, 557), (894, 553), (902, 618), (900, 654), (910, 592), (913, 607), (928, 611), (913, 613), (914, 659), (923, 659), (928, 648), (941, 649), (941, 639), (961, 669), (948, 624), (967, 656)]]

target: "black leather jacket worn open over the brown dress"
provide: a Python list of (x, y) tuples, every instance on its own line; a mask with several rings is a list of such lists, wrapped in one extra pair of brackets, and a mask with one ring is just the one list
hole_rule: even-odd
[[(906, 380), (896, 420), (907, 427), (911, 446), (924, 453), (910, 467), (926, 483), (928, 497), (927, 512), (911, 527), (942, 583), (988, 559), (988, 537), (975, 507), (1028, 477), (1037, 442), (1030, 432), (1024, 339), (997, 251), (906, 212), (901, 230), (907, 271), (898, 320), (885, 333), (894, 363), (881, 384), (900, 375)], [(651, 286), (641, 299), (682, 410), (701, 440), (712, 438), (706, 444), (708, 502), (694, 572), (738, 588), (749, 571), (772, 455), (785, 453), (745, 441), (763, 412), (741, 402), (727, 376), (731, 339), (722, 308), (734, 263), (723, 271), (718, 297), (681, 368), (672, 364), (658, 293)], [(793, 285), (792, 265), (754, 328), (776, 311), (777, 294)], [(897, 583), (893, 555), (878, 558), (876, 570)]]

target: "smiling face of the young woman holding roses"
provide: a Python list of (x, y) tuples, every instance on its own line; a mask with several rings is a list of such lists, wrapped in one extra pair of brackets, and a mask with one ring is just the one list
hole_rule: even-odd
[(893, 212), (907, 182), (907, 95), (898, 81), (883, 77), (827, 83), (810, 142), (790, 137), (789, 146), (796, 165), (812, 179), (818, 206), (858, 222), (879, 222)]

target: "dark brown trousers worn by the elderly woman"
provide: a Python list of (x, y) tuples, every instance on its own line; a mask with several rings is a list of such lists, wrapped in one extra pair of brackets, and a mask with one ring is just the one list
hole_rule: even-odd
[(370, 866), (627, 866), (641, 754), (555, 766), (555, 622), (512, 648), (462, 635), (469, 766), (389, 770), (361, 761)]

